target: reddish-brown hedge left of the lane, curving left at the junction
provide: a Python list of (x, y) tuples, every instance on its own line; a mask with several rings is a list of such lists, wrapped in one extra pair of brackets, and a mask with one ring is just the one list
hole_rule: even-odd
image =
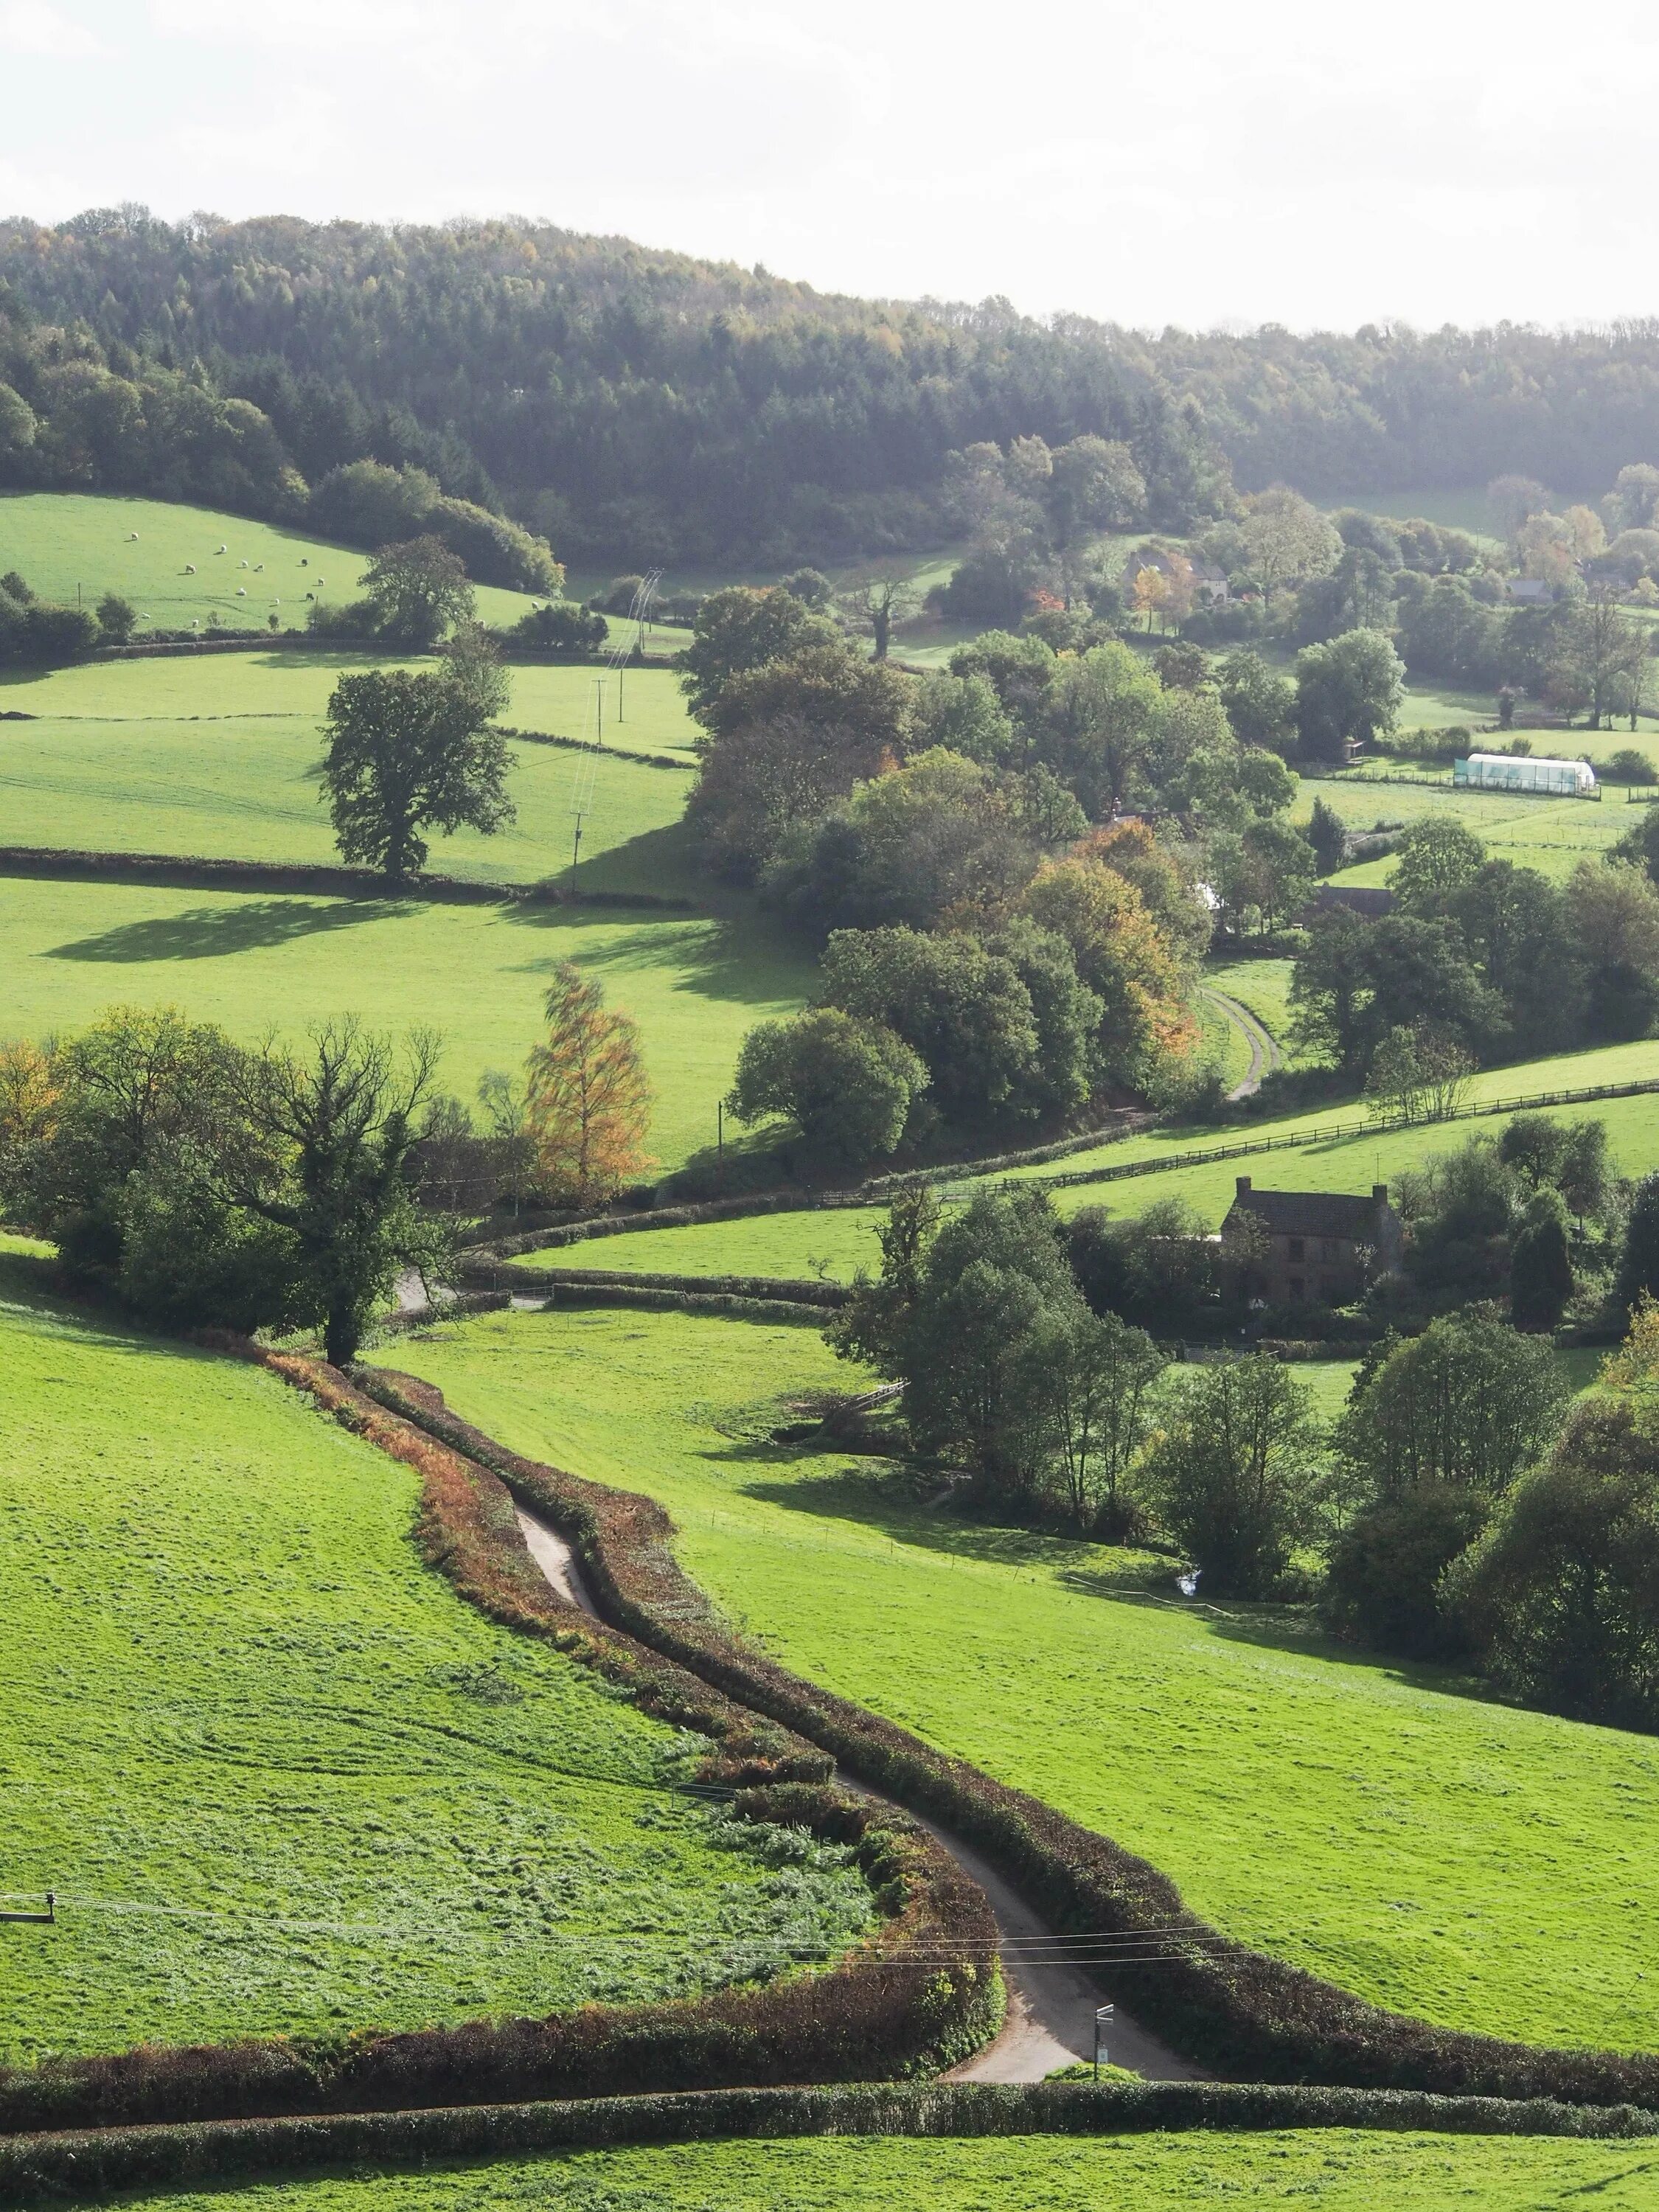
[[(387, 1413), (345, 1376), (246, 1338), (208, 1338), (310, 1391), (420, 1473), (416, 1544), (482, 1613), (542, 1635), (646, 1712), (710, 1736), (697, 1776), (741, 1820), (847, 1845), (883, 1913), (843, 1962), (765, 1989), (584, 2004), (409, 2035), (142, 2046), (0, 2075), (0, 2132), (299, 2112), (398, 2112), (792, 2079), (860, 2081), (947, 2066), (995, 2028), (998, 1929), (978, 1885), (891, 1807), (827, 1785), (830, 1761), (633, 1637), (564, 1604), (531, 1559), (502, 1482)], [(4, 2170), (4, 2168), (0, 2168)]]

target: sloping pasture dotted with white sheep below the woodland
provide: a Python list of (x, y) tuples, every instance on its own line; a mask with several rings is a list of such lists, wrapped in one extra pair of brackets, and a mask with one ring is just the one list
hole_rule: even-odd
[[(86, 606), (95, 606), (115, 591), (150, 617), (139, 637), (146, 628), (184, 630), (192, 619), (206, 628), (215, 611), (237, 626), (257, 628), (276, 613), (283, 628), (299, 628), (307, 591), (321, 588), (325, 604), (338, 606), (356, 597), (367, 564), (358, 546), (212, 507), (100, 491), (0, 493), (0, 568), (15, 568), (42, 599), (73, 604), (80, 586)], [(197, 573), (186, 575), (188, 566)], [(237, 597), (239, 586), (246, 599)], [(478, 586), (482, 622), (518, 622), (533, 604), (522, 591)]]

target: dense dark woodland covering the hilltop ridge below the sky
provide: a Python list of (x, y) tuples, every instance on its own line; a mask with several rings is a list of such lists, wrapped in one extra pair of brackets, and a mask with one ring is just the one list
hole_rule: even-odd
[(949, 456), (1024, 436), (1128, 447), (1159, 529), (1234, 487), (1579, 491), (1659, 449), (1648, 323), (1146, 336), (511, 221), (11, 221), (0, 387), (0, 482), (283, 513), (376, 460), (566, 557), (681, 564), (940, 542)]

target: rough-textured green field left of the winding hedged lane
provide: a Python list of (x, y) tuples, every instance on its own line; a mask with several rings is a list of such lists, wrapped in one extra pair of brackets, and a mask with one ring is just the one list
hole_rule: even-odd
[(462, 1604), (416, 1475), (283, 1383), (20, 1256), (0, 1371), (0, 1887), (60, 1893), (4, 1931), (0, 2057), (677, 1993), (860, 1922), (681, 1794), (701, 1739)]

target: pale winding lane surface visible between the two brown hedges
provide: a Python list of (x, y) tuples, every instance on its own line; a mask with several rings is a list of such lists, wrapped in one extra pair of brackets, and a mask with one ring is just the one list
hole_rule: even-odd
[[(526, 1513), (524, 1506), (515, 1511), (529, 1553), (549, 1584), (568, 1606), (580, 1606), (595, 1621), (602, 1619), (575, 1553), (557, 1528), (551, 1528), (538, 1513)], [(878, 1790), (867, 1790), (845, 1774), (838, 1781), (858, 1796), (891, 1803)], [(898, 1809), (902, 1812), (902, 1807)], [(1093, 2057), (1095, 2006), (1102, 2002), (1095, 1982), (1082, 1969), (1057, 1962), (1060, 1947), (1048, 1922), (971, 1845), (920, 1814), (907, 1814), (907, 1818), (942, 1843), (958, 1867), (980, 1885), (1002, 1938), (1002, 1978), (1009, 1986), (1009, 2015), (1002, 2033), (947, 2079), (1042, 2081), (1057, 2066)], [(1203, 2079), (1194, 2066), (1137, 2026), (1121, 2006), (1113, 2020), (1108, 2055), (1115, 2066), (1128, 2066), (1133, 2073), (1146, 2075), (1148, 2081)]]

